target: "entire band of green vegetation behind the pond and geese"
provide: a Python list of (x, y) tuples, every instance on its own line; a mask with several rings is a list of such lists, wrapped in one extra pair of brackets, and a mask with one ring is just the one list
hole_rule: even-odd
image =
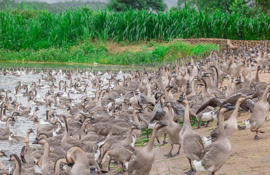
[(215, 49), (161, 44), (175, 38), (270, 39), (268, 0), (178, 0), (167, 11), (164, 0), (107, 2), (0, 1), (0, 60), (126, 65)]

